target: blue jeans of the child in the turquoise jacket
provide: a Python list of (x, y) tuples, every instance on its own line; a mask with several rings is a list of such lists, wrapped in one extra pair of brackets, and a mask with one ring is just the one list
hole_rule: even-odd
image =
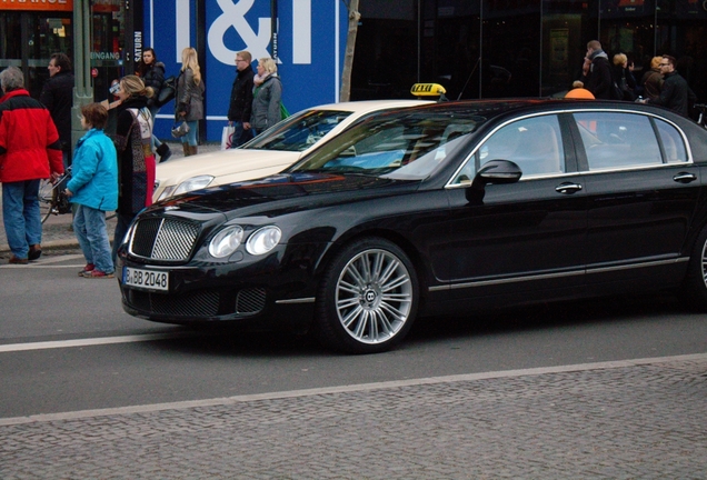
[(86, 262), (93, 263), (96, 270), (112, 273), (114, 268), (110, 258), (106, 212), (79, 204), (73, 217), (73, 232), (79, 240)]

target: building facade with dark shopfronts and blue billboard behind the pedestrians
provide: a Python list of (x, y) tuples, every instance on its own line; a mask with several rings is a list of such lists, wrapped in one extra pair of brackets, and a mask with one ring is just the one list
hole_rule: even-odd
[[(348, 2), (347, 2), (348, 3)], [(168, 74), (180, 52), (199, 52), (207, 120), (219, 140), (236, 52), (278, 59), (290, 111), (339, 99), (347, 3), (342, 0), (92, 0), (90, 74), (97, 100), (131, 73), (146, 47)], [(439, 82), (450, 99), (558, 94), (579, 77), (589, 40), (624, 52), (640, 78), (669, 53), (698, 98), (707, 99), (704, 0), (360, 0), (351, 99), (408, 98), (415, 82)], [(0, 69), (21, 67), (38, 97), (49, 56), (73, 51), (72, 0), (0, 0)], [(275, 19), (275, 20), (273, 20)], [(272, 32), (277, 34), (272, 34)], [(169, 137), (172, 106), (156, 131)]]

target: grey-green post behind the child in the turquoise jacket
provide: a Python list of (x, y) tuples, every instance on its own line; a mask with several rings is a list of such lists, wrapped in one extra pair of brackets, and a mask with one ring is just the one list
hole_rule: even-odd
[(73, 0), (73, 107), (71, 108), (71, 146), (83, 136), (81, 107), (93, 101), (91, 81), (90, 0)]

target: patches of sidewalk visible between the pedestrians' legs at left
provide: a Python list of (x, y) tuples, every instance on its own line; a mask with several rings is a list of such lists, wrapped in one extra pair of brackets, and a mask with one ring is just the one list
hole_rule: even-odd
[[(172, 156), (169, 161), (183, 157), (181, 144), (177, 142), (167, 142), (172, 151)], [(199, 146), (199, 153), (207, 153), (220, 150), (219, 143), (203, 143)], [(116, 229), (116, 219), (108, 220), (108, 236), (112, 238), (113, 230)], [(51, 216), (42, 226), (42, 250), (50, 249), (64, 249), (64, 248), (78, 248), (79, 243), (73, 234), (73, 231), (69, 230), (71, 226), (70, 214)], [(4, 232), (4, 226), (2, 223), (2, 197), (0, 196), (0, 259), (10, 258), (10, 248), (8, 247), (8, 239)], [(1, 260), (0, 260), (1, 262)]]

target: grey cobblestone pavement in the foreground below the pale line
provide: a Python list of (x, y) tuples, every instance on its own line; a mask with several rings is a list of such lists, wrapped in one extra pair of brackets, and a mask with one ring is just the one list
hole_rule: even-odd
[(0, 419), (2, 479), (704, 479), (707, 354)]

